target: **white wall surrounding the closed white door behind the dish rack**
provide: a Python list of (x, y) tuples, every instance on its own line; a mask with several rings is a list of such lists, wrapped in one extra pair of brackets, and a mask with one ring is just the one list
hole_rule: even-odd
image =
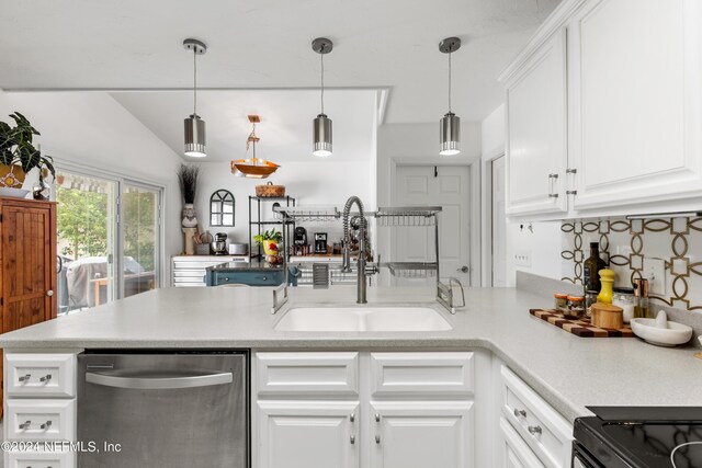
[[(397, 163), (431, 165), (472, 164), (471, 226), (476, 227), (471, 236), (472, 271), (480, 269), (479, 226), (479, 158), (480, 124), (463, 122), (461, 125), (461, 153), (439, 156), (439, 119), (430, 124), (388, 124), (378, 127), (377, 135), (377, 205), (390, 206), (395, 187)], [(377, 251), (389, 259), (389, 229), (378, 229)], [(479, 285), (479, 275), (472, 275), (472, 284)]]

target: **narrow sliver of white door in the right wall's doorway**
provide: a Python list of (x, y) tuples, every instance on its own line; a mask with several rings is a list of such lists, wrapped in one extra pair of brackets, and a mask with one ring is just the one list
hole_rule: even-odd
[(507, 286), (507, 217), (505, 157), (492, 161), (492, 286)]

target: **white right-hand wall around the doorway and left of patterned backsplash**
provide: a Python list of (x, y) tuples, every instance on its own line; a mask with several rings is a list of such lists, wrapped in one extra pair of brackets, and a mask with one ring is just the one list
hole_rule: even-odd
[[(506, 115), (505, 104), (497, 107), (490, 115), (485, 117), (480, 126), (483, 136), (482, 159), (483, 159), (483, 284), (489, 285), (489, 269), (491, 262), (489, 239), (491, 237), (490, 213), (491, 213), (491, 172), (490, 161), (505, 153), (506, 138)], [(559, 222), (534, 222), (533, 232), (529, 230), (529, 222), (507, 222), (507, 279), (508, 285), (516, 283), (516, 272), (523, 271), (552, 278), (561, 278), (561, 224)], [(518, 253), (529, 253), (531, 266), (517, 266), (514, 256)]]

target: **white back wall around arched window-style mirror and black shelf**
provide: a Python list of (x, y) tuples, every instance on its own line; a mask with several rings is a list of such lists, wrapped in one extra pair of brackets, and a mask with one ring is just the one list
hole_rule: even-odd
[[(256, 185), (268, 181), (276, 185), (285, 185), (285, 194), (296, 199), (297, 206), (333, 205), (341, 209), (347, 198), (358, 195), (363, 202), (372, 199), (372, 184), (369, 178), (371, 159), (362, 156), (358, 161), (335, 161), (331, 158), (318, 159), (309, 156), (306, 162), (280, 162), (281, 168), (269, 179), (254, 180), (235, 176), (229, 169), (229, 162), (200, 163), (201, 176), (197, 187), (195, 209), (197, 220), (203, 229), (211, 233), (226, 232), (229, 241), (248, 242), (249, 229), (249, 195), (256, 195)], [(374, 182), (374, 181), (373, 181)], [(210, 226), (208, 202), (213, 192), (226, 189), (234, 194), (236, 201), (236, 226)], [(271, 203), (264, 205), (262, 218), (272, 219)], [(299, 224), (308, 228), (307, 236), (312, 242), (312, 232), (325, 231), (329, 233), (329, 241), (341, 232), (341, 222), (322, 225)], [(335, 239), (336, 240), (336, 239)]]

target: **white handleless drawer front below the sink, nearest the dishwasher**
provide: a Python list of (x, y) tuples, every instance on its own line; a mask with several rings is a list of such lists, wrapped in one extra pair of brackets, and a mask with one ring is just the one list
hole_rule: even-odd
[(257, 353), (259, 396), (359, 395), (359, 353)]

